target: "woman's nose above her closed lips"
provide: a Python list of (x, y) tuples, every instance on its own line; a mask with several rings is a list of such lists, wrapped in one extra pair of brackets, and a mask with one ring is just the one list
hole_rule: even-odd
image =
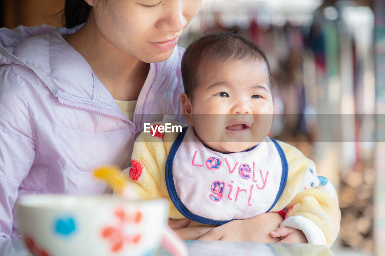
[(173, 2), (174, 6), (167, 8), (167, 12), (156, 23), (156, 28), (162, 32), (177, 33), (186, 27), (187, 21), (183, 15), (183, 0)]

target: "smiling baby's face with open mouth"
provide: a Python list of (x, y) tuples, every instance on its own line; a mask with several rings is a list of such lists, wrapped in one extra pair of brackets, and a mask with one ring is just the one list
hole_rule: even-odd
[(271, 128), (273, 99), (266, 65), (240, 60), (202, 68), (191, 114), (186, 115), (188, 108), (184, 112), (209, 148), (222, 153), (252, 148)]

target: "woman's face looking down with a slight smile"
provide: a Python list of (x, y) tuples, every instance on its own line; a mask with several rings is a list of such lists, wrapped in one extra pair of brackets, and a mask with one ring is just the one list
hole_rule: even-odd
[(114, 47), (143, 62), (171, 56), (202, 0), (87, 0), (101, 35)]

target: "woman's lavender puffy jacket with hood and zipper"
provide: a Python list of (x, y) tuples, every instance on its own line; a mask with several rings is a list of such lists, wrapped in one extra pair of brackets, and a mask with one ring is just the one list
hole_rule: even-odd
[(144, 123), (163, 114), (179, 113), (175, 120), (182, 120), (184, 49), (151, 63), (132, 123), (63, 39), (78, 28), (0, 29), (0, 238), (19, 236), (19, 195), (103, 193), (93, 168), (126, 168)]

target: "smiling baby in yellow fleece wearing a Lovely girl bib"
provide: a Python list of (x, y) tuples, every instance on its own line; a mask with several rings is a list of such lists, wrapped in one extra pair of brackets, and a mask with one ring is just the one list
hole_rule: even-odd
[(157, 123), (139, 135), (130, 186), (145, 199), (168, 198), (170, 218), (202, 224), (285, 210), (271, 236), (331, 246), (335, 188), (298, 149), (268, 137), (273, 78), (261, 50), (239, 34), (208, 35), (187, 48), (182, 78), (189, 126), (166, 133)]

